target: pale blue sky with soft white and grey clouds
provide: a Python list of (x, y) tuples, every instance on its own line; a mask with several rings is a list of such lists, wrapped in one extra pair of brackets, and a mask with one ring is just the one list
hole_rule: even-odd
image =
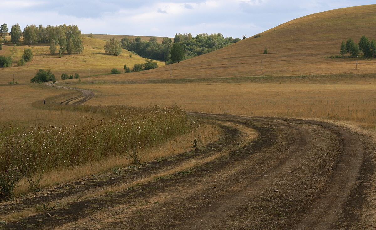
[(376, 0), (0, 0), (9, 30), (73, 24), (82, 33), (173, 37), (176, 33), (256, 35), (305, 15)]

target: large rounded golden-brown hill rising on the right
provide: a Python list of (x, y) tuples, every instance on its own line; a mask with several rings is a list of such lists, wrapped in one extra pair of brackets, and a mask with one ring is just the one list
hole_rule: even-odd
[[(335, 9), (297, 18), (220, 50), (144, 73), (134, 79), (288, 76), (373, 73), (376, 60), (327, 56), (339, 54), (343, 40), (376, 39), (376, 5)], [(268, 54), (262, 54), (264, 48)], [(262, 71), (261, 71), (262, 60)], [(130, 76), (128, 76), (130, 77)]]

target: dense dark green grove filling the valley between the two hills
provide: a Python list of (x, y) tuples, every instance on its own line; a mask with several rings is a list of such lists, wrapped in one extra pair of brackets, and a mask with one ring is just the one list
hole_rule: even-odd
[[(183, 59), (188, 59), (223, 48), (238, 41), (240, 41), (239, 38), (224, 38), (220, 33), (211, 35), (201, 33), (196, 37), (192, 37), (190, 33), (179, 33), (175, 35), (174, 42), (172, 42), (171, 38), (163, 38), (162, 43), (158, 43), (155, 37), (151, 37), (149, 41), (141, 41), (140, 37), (135, 39), (124, 37), (120, 42), (126, 50), (134, 51), (138, 55), (149, 59), (166, 61), (169, 64), (177, 62), (170, 56), (173, 43), (179, 43), (183, 47)], [(179, 61), (182, 61), (182, 59)]]

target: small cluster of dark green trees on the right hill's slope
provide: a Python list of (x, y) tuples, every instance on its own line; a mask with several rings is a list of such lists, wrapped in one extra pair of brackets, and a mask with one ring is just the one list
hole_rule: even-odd
[(350, 54), (352, 57), (358, 56), (358, 54), (362, 52), (364, 57), (376, 57), (376, 41), (372, 39), (371, 41), (363, 35), (360, 38), (358, 44), (351, 38), (347, 39), (347, 41), (342, 41), (340, 54), (342, 56), (346, 55), (347, 53)]

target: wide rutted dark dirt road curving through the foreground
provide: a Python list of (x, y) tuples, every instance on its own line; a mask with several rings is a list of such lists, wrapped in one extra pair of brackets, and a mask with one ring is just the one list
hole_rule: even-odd
[(190, 114), (219, 123), (220, 140), (2, 202), (0, 216), (55, 206), (3, 229), (359, 227), (374, 173), (366, 136), (320, 121)]

